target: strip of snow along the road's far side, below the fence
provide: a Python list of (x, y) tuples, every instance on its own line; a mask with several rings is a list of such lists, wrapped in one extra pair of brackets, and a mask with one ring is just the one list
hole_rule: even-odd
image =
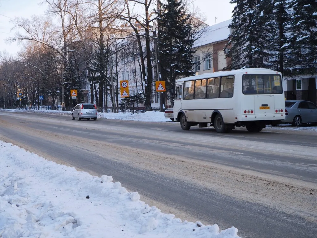
[[(0, 109), (3, 110), (3, 109)], [(57, 111), (57, 110), (19, 110), (19, 109), (4, 109), (3, 111), (10, 112), (31, 112), (39, 114), (54, 114), (54, 115), (71, 115), (70, 111)], [(114, 119), (114, 120), (130, 120), (140, 122), (171, 122), (170, 119), (164, 117), (163, 112), (147, 111), (145, 113), (98, 113), (99, 118)]]

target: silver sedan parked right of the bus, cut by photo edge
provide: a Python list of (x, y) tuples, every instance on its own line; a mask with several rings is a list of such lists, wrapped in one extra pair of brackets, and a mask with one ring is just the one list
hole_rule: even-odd
[(285, 119), (281, 122), (291, 123), (293, 126), (316, 123), (317, 106), (309, 101), (287, 100), (285, 101)]

